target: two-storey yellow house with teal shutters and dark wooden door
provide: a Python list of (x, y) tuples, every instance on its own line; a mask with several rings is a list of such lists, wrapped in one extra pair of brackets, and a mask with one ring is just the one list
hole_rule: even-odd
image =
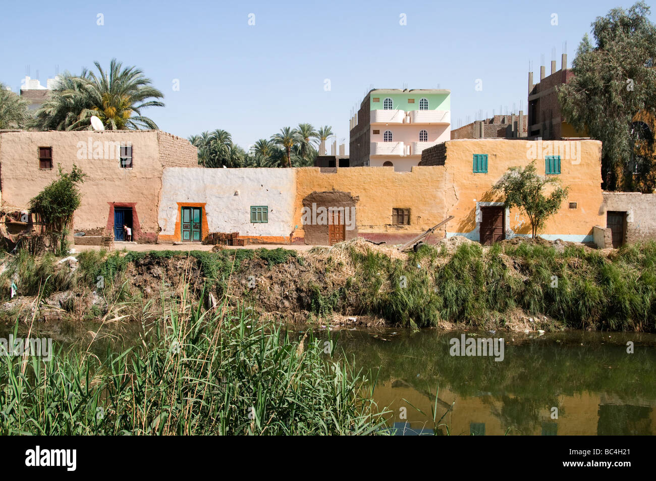
[(509, 167), (535, 162), (537, 173), (569, 186), (568, 198), (540, 236), (592, 242), (594, 226), (604, 219), (601, 153), (598, 140), (449, 140), (424, 150), (419, 165), (438, 165), (448, 179), (448, 213), (455, 219), (447, 226), (447, 236), (489, 244), (530, 235), (527, 217), (518, 209), (505, 209), (491, 187)]

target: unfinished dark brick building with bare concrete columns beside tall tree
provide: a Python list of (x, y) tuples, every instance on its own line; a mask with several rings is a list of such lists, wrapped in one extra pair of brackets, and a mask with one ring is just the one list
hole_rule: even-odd
[(533, 84), (533, 72), (529, 72), (529, 138), (558, 140), (586, 136), (565, 122), (560, 113), (556, 89), (559, 85), (569, 83), (574, 76), (574, 73), (567, 69), (566, 53), (562, 54), (561, 62), (561, 68), (556, 72), (556, 60), (551, 61), (551, 75), (548, 77), (544, 76), (544, 65), (541, 66), (540, 81), (536, 84)]

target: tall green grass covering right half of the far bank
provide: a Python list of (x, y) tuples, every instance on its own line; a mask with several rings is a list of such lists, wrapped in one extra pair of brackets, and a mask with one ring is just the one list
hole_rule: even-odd
[[(561, 246), (562, 247), (562, 246)], [(599, 251), (539, 243), (422, 246), (407, 261), (352, 251), (362, 308), (409, 325), (440, 320), (501, 327), (508, 312), (550, 316), (568, 327), (656, 330), (656, 243)]]

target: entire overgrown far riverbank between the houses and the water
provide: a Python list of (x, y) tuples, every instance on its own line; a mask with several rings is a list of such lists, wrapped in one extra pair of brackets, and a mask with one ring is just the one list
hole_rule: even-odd
[[(590, 249), (464, 238), (400, 253), (358, 239), (287, 249), (8, 256), (0, 319), (141, 321), (185, 290), (204, 308), (243, 306), (264, 321), (514, 331), (656, 331), (656, 243)], [(11, 283), (18, 295), (10, 298)], [(147, 310), (147, 309), (146, 309)]]

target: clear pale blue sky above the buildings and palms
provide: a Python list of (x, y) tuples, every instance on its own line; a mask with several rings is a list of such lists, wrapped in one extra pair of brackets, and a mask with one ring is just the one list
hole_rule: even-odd
[(310, 122), (332, 125), (348, 150), (351, 110), (370, 85), (451, 89), (453, 127), (479, 110), (526, 110), (529, 61), (539, 78), (544, 55), (548, 74), (552, 49), (560, 68), (567, 42), (571, 66), (594, 18), (633, 3), (14, 1), (0, 16), (0, 81), (16, 91), (28, 65), (45, 85), (57, 67), (78, 73), (116, 57), (165, 94), (165, 108), (144, 112), (164, 131), (225, 129), (247, 148)]

